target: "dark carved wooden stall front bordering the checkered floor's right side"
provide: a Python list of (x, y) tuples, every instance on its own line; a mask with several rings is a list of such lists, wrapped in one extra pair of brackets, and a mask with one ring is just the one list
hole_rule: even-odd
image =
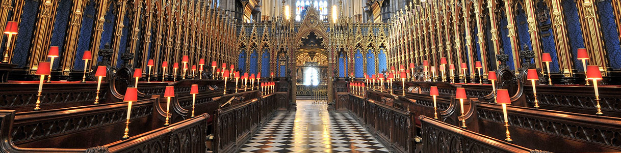
[(414, 113), (350, 94), (350, 111), (394, 152), (414, 152)]

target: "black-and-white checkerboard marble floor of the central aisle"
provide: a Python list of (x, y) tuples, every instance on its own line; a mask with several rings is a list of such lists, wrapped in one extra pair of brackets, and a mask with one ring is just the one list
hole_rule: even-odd
[(276, 113), (238, 152), (388, 152), (348, 113), (306, 100), (297, 107)]

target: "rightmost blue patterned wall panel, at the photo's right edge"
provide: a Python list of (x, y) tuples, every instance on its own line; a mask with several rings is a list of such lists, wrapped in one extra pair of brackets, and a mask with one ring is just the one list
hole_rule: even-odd
[(604, 45), (606, 46), (610, 67), (619, 69), (621, 68), (621, 44), (619, 43), (619, 31), (616, 30), (617, 23), (615, 22), (615, 14), (610, 0), (599, 1), (597, 3), (597, 12), (602, 24), (602, 36), (604, 37)]

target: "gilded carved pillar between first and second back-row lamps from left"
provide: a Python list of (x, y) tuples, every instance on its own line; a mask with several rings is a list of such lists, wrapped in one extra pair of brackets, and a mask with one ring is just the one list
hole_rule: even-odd
[(50, 37), (54, 28), (53, 22), (56, 16), (58, 1), (46, 0), (39, 6), (39, 14), (35, 27), (35, 35), (30, 47), (29, 66), (30, 74), (37, 70), (39, 61), (47, 61), (47, 52), (50, 47)]

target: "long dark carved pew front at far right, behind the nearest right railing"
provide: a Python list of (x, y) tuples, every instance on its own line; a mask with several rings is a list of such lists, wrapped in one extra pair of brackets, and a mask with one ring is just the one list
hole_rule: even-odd
[[(501, 105), (473, 102), (468, 129), (504, 139)], [(621, 118), (507, 106), (513, 143), (553, 152), (620, 152)]]

